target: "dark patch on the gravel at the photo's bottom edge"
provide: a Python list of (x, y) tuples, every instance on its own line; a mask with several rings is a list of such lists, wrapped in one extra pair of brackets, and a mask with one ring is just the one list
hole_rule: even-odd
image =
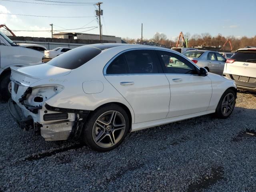
[(203, 179), (197, 184), (188, 186), (188, 192), (202, 191), (207, 189), (217, 181), (224, 179), (224, 168), (222, 166), (212, 167), (212, 176), (203, 176)]

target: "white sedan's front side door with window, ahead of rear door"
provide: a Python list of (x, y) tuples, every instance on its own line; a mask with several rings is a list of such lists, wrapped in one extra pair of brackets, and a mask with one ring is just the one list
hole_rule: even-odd
[(212, 96), (208, 76), (198, 76), (196, 66), (173, 52), (157, 51), (170, 82), (171, 101), (167, 117), (206, 111)]

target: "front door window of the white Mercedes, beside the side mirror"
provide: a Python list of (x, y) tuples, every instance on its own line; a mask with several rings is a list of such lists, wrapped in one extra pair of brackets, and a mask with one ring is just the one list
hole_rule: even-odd
[(157, 51), (165, 73), (197, 74), (196, 67), (184, 57), (167, 51)]

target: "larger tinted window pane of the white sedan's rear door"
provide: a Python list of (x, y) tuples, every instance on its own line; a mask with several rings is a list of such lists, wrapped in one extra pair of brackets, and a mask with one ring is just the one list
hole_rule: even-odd
[(158, 73), (159, 60), (153, 50), (132, 50), (124, 53), (130, 74)]

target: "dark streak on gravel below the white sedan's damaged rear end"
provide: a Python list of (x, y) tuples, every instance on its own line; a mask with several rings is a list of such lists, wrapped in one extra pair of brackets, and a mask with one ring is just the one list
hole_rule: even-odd
[(61, 153), (61, 152), (65, 152), (71, 149), (78, 149), (78, 148), (82, 148), (83, 146), (85, 146), (82, 143), (78, 143), (78, 144), (74, 144), (72, 146), (68, 146), (68, 147), (64, 147), (64, 148), (59, 148), (59, 149), (55, 149), (52, 151), (47, 151), (47, 152), (42, 152), (42, 153), (38, 153), (38, 154), (32, 154), (31, 156), (28, 156), (25, 158), (25, 161), (33, 161), (33, 160), (38, 160), (38, 159), (42, 159), (45, 157), (50, 157), (52, 155), (55, 155), (57, 153)]

